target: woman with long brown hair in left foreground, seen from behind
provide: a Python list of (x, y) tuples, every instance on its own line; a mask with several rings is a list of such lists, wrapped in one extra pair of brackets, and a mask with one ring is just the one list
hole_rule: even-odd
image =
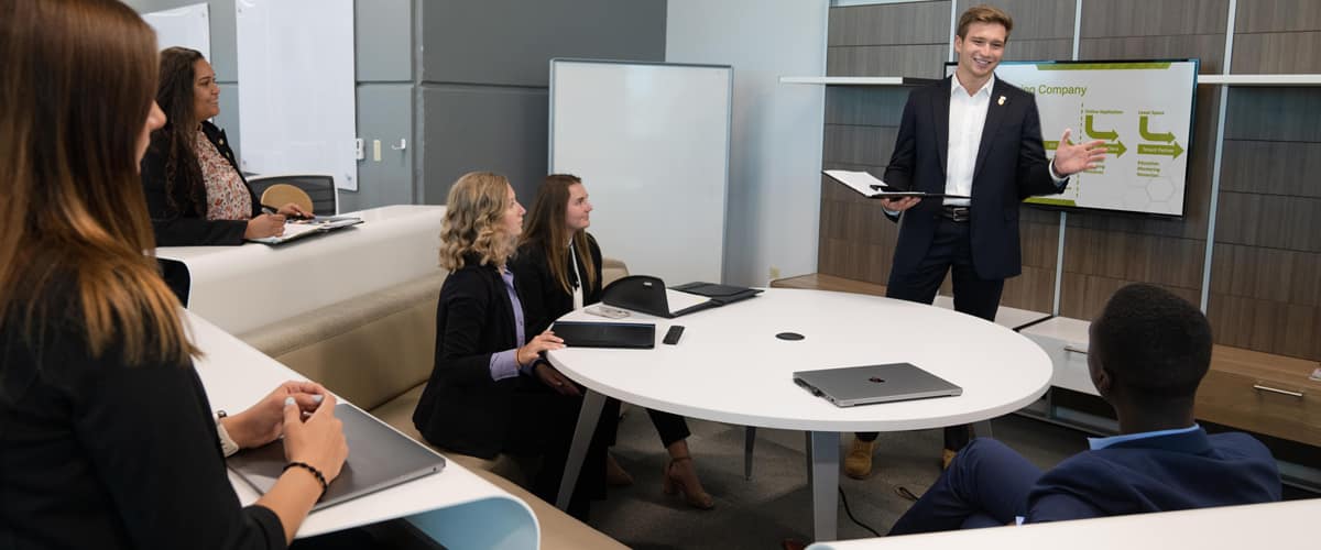
[[(0, 66), (0, 547), (284, 547), (343, 433), (310, 382), (210, 415), (143, 253), (155, 33), (118, 1), (8, 0)], [(218, 429), (240, 446), (283, 433), (296, 464), (242, 508)]]

